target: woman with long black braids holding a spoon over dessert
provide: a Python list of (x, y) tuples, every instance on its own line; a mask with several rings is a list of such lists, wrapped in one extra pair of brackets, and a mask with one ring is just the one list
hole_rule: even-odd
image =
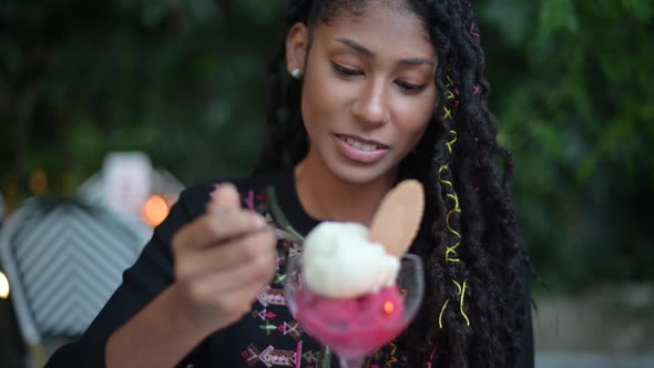
[(533, 367), (530, 266), (471, 3), (294, 1), (288, 24), (270, 63), (258, 173), (185, 191), (89, 330), (49, 366), (329, 366), (280, 297), (278, 253), (296, 245), (275, 246), (265, 223), (303, 235), (324, 219), (369, 224), (413, 177), (426, 187), (410, 251), (426, 263), (426, 298), (368, 366)]

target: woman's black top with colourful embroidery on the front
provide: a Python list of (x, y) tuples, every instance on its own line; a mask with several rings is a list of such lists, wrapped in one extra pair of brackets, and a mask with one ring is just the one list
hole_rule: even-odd
[[(270, 225), (304, 237), (318, 224), (299, 202), (290, 167), (233, 183), (239, 190), (243, 206), (264, 215)], [(171, 238), (180, 227), (205, 211), (213, 188), (213, 184), (207, 184), (182, 193), (89, 329), (78, 341), (60, 348), (45, 367), (104, 367), (109, 336), (173, 283)], [(298, 244), (278, 241), (276, 276), (270, 285), (260, 290), (252, 313), (206, 338), (178, 367), (338, 367), (335, 355), (303, 331), (285, 304), (285, 256), (299, 249)], [(531, 352), (528, 361), (533, 361), (531, 336), (525, 343), (525, 348), (530, 350), (528, 354)], [(389, 362), (395, 360), (396, 357), (392, 357)], [(366, 364), (369, 368), (387, 366), (380, 351), (369, 357)]]

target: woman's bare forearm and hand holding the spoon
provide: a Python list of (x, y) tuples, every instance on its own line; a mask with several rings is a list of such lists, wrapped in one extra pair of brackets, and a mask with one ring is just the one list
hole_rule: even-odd
[(275, 273), (275, 237), (221, 185), (206, 214), (173, 237), (175, 282), (106, 343), (106, 367), (172, 367), (246, 314)]

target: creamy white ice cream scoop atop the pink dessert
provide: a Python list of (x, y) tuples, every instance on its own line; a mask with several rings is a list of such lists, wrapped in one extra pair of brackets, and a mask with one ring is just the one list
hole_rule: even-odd
[(399, 259), (368, 239), (368, 228), (356, 223), (324, 222), (305, 238), (303, 278), (311, 292), (351, 298), (395, 284)]

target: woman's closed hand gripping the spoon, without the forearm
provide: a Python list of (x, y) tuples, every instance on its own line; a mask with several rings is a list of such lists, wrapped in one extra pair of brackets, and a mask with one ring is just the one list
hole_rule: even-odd
[(249, 311), (275, 275), (276, 242), (265, 225), (241, 208), (233, 185), (216, 188), (206, 214), (173, 237), (181, 317), (208, 334)]

